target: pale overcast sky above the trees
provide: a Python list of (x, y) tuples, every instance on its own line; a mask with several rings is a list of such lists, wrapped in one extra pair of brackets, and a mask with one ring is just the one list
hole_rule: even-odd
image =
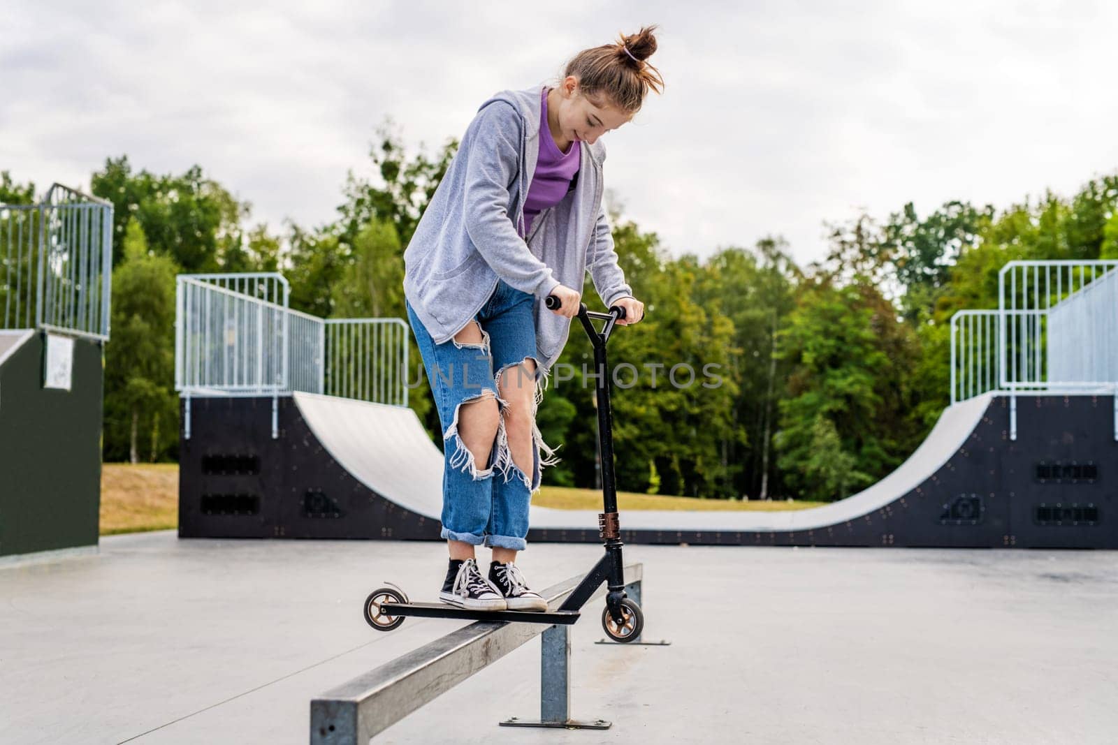
[(605, 136), (606, 183), (673, 255), (774, 233), (806, 262), (859, 209), (1118, 170), (1112, 2), (240, 4), (4, 3), (0, 170), (44, 190), (110, 155), (197, 163), (254, 221), (321, 225), (386, 116), (433, 152), (496, 90), (652, 22), (666, 88)]

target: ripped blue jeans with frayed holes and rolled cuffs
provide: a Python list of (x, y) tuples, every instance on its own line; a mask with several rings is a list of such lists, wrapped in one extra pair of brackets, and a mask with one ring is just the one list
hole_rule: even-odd
[[(498, 280), (493, 294), (474, 318), (481, 328), (481, 343), (452, 338), (436, 344), (411, 305), (407, 300), (405, 305), (443, 426), (440, 535), (475, 546), (523, 551), (528, 547), (531, 495), (540, 486), (543, 466), (557, 460), (536, 426), (536, 410), (542, 400), (547, 378), (540, 372), (536, 356), (534, 298)], [(524, 374), (524, 369), (519, 366), (525, 360), (536, 363), (534, 375)], [(505, 418), (510, 404), (501, 397), (501, 391), (508, 392), (512, 385), (534, 388), (531, 476), (513, 462), (509, 449)], [(486, 397), (498, 402), (499, 423), (489, 461), (482, 467), (458, 434), (458, 413), (463, 404)], [(506, 398), (511, 397), (506, 393)]]

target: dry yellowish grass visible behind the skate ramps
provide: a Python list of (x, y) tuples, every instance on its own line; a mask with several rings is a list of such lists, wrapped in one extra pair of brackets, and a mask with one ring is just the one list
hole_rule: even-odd
[[(601, 510), (601, 493), (594, 489), (571, 489), (546, 486), (533, 504), (556, 509)], [(622, 491), (617, 495), (620, 510), (629, 509), (702, 509), (759, 510), (804, 509), (818, 507), (822, 502), (726, 502), (693, 497), (665, 497), (654, 494)], [(165, 531), (179, 526), (178, 464), (104, 464), (101, 467), (101, 534)]]

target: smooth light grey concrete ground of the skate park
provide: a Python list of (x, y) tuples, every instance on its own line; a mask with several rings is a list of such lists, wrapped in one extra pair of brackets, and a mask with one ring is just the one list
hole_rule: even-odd
[[(591, 545), (537, 544), (537, 586)], [(102, 538), (0, 569), (0, 742), (306, 743), (313, 696), (462, 622), (366, 625), (382, 580), (434, 600), (434, 543)], [(1114, 743), (1118, 552), (626, 546), (646, 639), (574, 629), (572, 716), (539, 716), (530, 642), (383, 743)], [(489, 561), (487, 552), (483, 552)], [(600, 602), (600, 601), (599, 601)]]

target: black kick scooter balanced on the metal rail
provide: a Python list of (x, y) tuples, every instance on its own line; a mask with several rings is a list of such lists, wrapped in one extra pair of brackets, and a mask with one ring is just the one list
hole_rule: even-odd
[[(560, 307), (560, 300), (549, 295), (549, 309)], [(601, 612), (601, 628), (614, 641), (627, 642), (639, 639), (644, 628), (641, 606), (625, 595), (625, 573), (622, 561), (620, 527), (617, 520), (617, 493), (614, 484), (614, 437), (613, 416), (609, 410), (609, 376), (606, 366), (606, 342), (618, 318), (625, 317), (625, 308), (614, 306), (609, 313), (595, 313), (579, 303), (578, 319), (582, 322), (587, 336), (594, 345), (594, 365), (598, 397), (598, 442), (601, 452), (603, 512), (598, 515), (598, 529), (605, 542), (606, 553), (590, 570), (567, 600), (557, 610), (547, 611), (479, 611), (457, 608), (446, 603), (413, 603), (396, 585), (373, 590), (364, 601), (364, 620), (378, 631), (391, 631), (404, 623), (409, 615), (439, 619), (468, 619), (473, 621), (515, 621), (520, 623), (547, 623), (569, 625), (579, 618), (579, 611), (590, 595), (606, 582), (606, 608)], [(604, 321), (601, 329), (595, 328), (591, 319)]]

